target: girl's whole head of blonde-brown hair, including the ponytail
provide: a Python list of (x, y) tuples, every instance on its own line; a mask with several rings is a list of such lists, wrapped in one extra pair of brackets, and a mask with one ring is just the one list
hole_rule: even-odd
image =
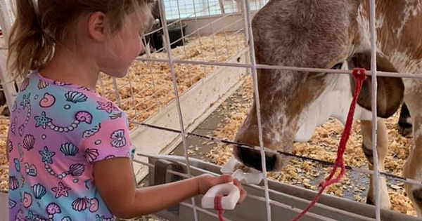
[(36, 2), (16, 2), (7, 61), (14, 78), (44, 67), (53, 58), (55, 46), (72, 37), (72, 27), (81, 15), (101, 11), (110, 18), (111, 32), (117, 32), (127, 15), (138, 13), (147, 27), (153, 0), (38, 0), (38, 6)]

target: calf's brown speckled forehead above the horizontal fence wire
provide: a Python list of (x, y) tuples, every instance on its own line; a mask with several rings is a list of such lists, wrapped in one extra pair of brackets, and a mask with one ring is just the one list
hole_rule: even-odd
[(357, 6), (325, 1), (270, 1), (262, 8), (252, 22), (258, 62), (326, 68), (344, 61), (355, 39)]

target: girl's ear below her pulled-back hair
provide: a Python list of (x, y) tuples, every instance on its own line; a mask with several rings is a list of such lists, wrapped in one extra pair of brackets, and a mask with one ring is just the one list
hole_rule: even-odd
[(99, 42), (105, 41), (108, 34), (108, 28), (108, 18), (106, 14), (97, 11), (89, 15), (87, 29), (91, 39)]

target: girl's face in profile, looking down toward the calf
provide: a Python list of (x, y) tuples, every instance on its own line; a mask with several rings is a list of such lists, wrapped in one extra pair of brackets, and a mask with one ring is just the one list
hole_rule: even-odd
[(123, 77), (129, 66), (143, 51), (140, 33), (143, 32), (142, 19), (136, 13), (130, 14), (122, 28), (108, 41), (101, 60), (100, 71), (110, 76)]

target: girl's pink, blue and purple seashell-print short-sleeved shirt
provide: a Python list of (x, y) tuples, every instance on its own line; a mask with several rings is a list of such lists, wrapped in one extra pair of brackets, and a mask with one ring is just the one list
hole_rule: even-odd
[(127, 116), (88, 88), (32, 72), (11, 108), (10, 220), (115, 220), (93, 163), (132, 157)]

